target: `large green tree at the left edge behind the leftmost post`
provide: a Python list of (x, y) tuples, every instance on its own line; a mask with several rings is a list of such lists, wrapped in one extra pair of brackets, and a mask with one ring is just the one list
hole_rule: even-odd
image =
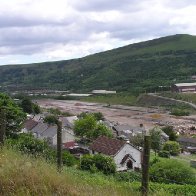
[(26, 114), (8, 95), (0, 93), (0, 108), (6, 115), (6, 136), (21, 131), (22, 123), (26, 119)]

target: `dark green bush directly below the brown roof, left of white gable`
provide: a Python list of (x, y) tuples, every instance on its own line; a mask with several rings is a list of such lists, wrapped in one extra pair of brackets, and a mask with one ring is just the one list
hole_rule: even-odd
[(81, 158), (80, 168), (83, 170), (90, 170), (93, 172), (101, 171), (104, 174), (111, 174), (116, 172), (116, 165), (111, 157), (104, 155), (84, 155)]

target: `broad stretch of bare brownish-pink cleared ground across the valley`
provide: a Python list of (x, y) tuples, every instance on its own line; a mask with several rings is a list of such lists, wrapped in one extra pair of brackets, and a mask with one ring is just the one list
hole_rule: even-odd
[(102, 112), (106, 119), (120, 124), (129, 124), (139, 126), (143, 124), (146, 129), (157, 125), (173, 125), (176, 129), (182, 127), (195, 126), (196, 116), (175, 117), (169, 115), (167, 111), (156, 108), (130, 107), (122, 105), (112, 105), (107, 107), (106, 104), (88, 103), (81, 101), (37, 100), (37, 103), (43, 108), (58, 108), (64, 112), (70, 112), (77, 115), (81, 112)]

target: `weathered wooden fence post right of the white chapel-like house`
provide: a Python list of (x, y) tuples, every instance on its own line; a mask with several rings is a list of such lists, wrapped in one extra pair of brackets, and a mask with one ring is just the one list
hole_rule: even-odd
[(149, 160), (150, 160), (150, 136), (144, 136), (144, 149), (142, 160), (142, 195), (148, 195), (149, 184)]

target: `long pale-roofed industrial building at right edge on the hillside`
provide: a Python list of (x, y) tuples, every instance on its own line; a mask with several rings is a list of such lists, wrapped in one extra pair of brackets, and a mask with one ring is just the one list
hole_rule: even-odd
[(172, 92), (196, 92), (196, 82), (194, 83), (179, 83), (171, 87)]

